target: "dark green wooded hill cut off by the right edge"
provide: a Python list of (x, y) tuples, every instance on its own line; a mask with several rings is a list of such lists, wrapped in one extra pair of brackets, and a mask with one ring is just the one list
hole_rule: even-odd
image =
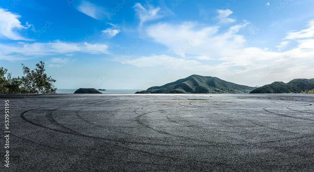
[(300, 93), (301, 91), (314, 89), (313, 79), (294, 79), (288, 83), (273, 82), (259, 87), (250, 93)]

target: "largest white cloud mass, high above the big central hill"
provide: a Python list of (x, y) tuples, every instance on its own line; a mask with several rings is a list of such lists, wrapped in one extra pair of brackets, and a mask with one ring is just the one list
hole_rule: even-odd
[(229, 55), (235, 47), (247, 41), (244, 36), (236, 34), (247, 24), (245, 21), (230, 27), (225, 33), (218, 34), (218, 26), (199, 28), (198, 23), (191, 22), (179, 25), (163, 23), (149, 36), (167, 46), (170, 52), (182, 57), (191, 54), (217, 59)]

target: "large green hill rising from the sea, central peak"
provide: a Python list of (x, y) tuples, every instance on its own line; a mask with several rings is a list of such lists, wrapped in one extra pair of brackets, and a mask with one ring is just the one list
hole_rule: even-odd
[(217, 77), (191, 75), (163, 86), (153, 86), (136, 93), (249, 93), (255, 88), (227, 82)]

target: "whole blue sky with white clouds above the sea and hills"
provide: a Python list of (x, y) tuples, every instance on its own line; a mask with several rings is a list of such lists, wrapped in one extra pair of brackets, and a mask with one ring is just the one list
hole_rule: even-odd
[(314, 78), (312, 0), (3, 0), (0, 66), (45, 61), (57, 88), (138, 89), (198, 74)]

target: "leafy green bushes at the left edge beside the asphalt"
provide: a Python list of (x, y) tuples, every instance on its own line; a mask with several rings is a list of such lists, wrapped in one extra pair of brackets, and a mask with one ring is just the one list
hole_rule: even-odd
[(7, 69), (0, 68), (0, 93), (56, 93), (57, 88), (54, 88), (52, 83), (56, 80), (51, 76), (47, 77), (44, 73), (45, 62), (40, 61), (36, 64), (35, 70), (23, 66), (24, 76), (11, 78), (11, 73), (5, 74)]

